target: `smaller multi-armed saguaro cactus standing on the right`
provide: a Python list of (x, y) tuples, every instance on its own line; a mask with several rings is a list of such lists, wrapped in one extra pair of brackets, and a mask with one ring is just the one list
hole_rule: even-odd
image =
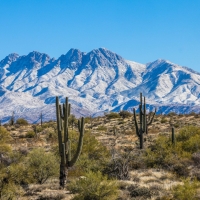
[[(144, 103), (143, 103), (144, 99)], [(148, 134), (148, 126), (152, 124), (154, 116), (156, 114), (155, 112), (152, 113), (152, 115), (147, 115), (146, 112), (146, 100), (145, 97), (142, 97), (142, 93), (140, 93), (140, 105), (139, 105), (139, 126), (136, 118), (136, 111), (135, 108), (133, 109), (133, 115), (134, 115), (134, 123), (135, 123), (135, 129), (136, 134), (140, 139), (140, 149), (143, 149), (143, 133)]]

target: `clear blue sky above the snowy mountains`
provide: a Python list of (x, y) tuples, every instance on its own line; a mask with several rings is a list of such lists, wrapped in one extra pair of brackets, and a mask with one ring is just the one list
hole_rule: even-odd
[(0, 0), (0, 60), (99, 47), (200, 72), (200, 0)]

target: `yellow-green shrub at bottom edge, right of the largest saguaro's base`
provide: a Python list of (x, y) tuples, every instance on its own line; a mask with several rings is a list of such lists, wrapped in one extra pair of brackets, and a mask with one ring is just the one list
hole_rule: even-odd
[(88, 172), (85, 177), (73, 180), (68, 189), (77, 194), (74, 200), (114, 200), (118, 196), (116, 181), (108, 180), (101, 172)]

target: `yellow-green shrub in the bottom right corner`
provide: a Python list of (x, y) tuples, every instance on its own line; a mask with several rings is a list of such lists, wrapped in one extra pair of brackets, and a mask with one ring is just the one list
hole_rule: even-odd
[(177, 200), (197, 200), (197, 189), (200, 188), (200, 182), (197, 180), (186, 179), (183, 185), (177, 185), (173, 188), (174, 199)]

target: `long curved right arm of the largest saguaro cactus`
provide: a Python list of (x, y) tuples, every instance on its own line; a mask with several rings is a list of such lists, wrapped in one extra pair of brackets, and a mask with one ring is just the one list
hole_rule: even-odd
[(83, 146), (83, 135), (84, 135), (84, 118), (82, 117), (78, 147), (77, 147), (74, 157), (72, 158), (71, 161), (69, 161), (69, 167), (72, 167), (76, 163), (77, 159), (79, 158), (79, 155), (81, 154), (81, 150), (82, 150), (82, 146)]

